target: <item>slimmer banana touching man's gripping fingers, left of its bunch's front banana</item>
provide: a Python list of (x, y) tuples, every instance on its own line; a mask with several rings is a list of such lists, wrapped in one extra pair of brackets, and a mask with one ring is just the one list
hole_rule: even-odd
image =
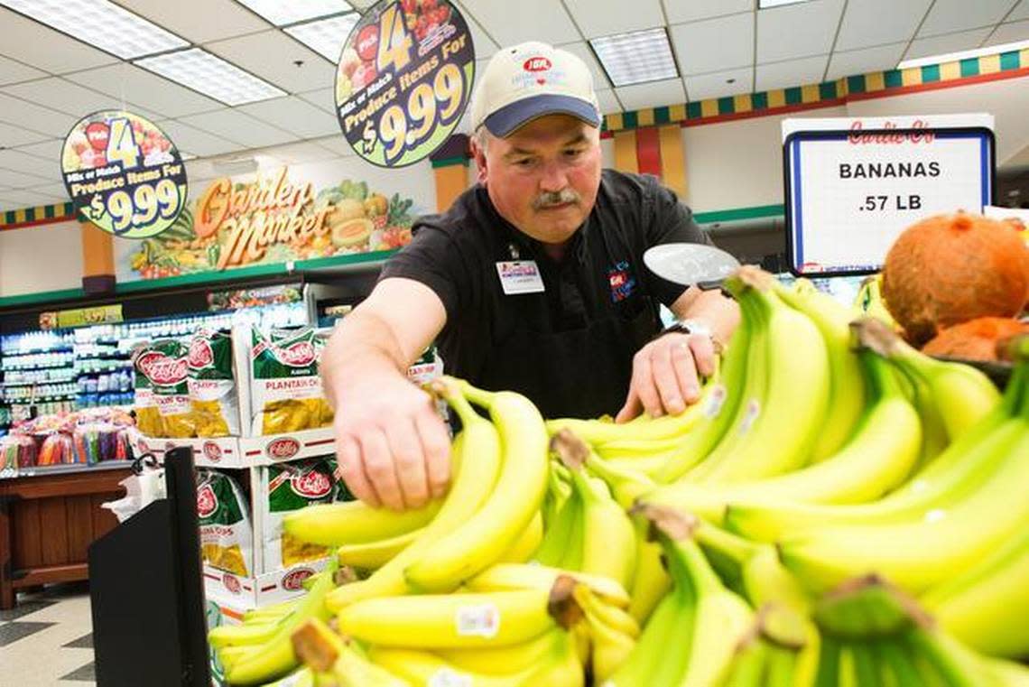
[[(500, 471), (500, 437), (492, 423), (482, 418), (461, 395), (453, 381), (437, 381), (437, 393), (447, 399), (461, 419), (463, 429), (459, 447), (461, 457), (456, 465), (454, 482), (436, 517), (425, 526), (421, 537), (379, 568), (366, 580), (347, 584), (332, 591), (325, 603), (336, 612), (360, 599), (401, 594), (409, 591), (404, 570), (429, 550), (435, 550), (440, 540), (469, 518), (490, 498), (490, 487)], [(538, 507), (538, 504), (537, 504)], [(528, 523), (528, 518), (524, 528)], [(521, 530), (520, 530), (521, 532)]]

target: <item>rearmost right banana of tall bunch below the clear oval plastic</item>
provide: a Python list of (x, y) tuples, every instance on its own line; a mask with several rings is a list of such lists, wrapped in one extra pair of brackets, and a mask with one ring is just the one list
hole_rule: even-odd
[(817, 463), (847, 443), (864, 412), (864, 374), (850, 346), (853, 316), (848, 308), (806, 279), (796, 280), (791, 289), (777, 286), (779, 297), (787, 305), (815, 323), (828, 353), (829, 401), (811, 453), (812, 462)]

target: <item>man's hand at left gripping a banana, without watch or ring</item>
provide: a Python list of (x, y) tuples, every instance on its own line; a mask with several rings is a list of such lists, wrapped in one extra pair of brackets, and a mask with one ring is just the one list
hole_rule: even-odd
[(432, 398), (396, 370), (335, 395), (335, 453), (350, 491), (371, 506), (419, 508), (450, 483), (450, 435)]

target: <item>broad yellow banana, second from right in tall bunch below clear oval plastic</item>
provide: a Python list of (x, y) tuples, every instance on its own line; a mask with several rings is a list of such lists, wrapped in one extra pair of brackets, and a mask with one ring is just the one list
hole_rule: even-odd
[[(739, 482), (795, 470), (811, 460), (829, 394), (825, 340), (804, 314), (775, 294), (775, 278), (756, 267), (741, 267), (725, 280), (740, 301), (754, 303), (757, 327), (767, 329), (765, 366), (748, 369), (764, 377), (760, 412), (732, 453), (705, 481)], [(796, 393), (803, 389), (804, 393)]]

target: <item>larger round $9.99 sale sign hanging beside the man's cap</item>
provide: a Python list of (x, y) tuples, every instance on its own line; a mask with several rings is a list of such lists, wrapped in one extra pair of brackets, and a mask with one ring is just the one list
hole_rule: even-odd
[(450, 137), (474, 76), (471, 33), (454, 5), (384, 0), (364, 13), (340, 56), (343, 135), (372, 165), (413, 165)]

